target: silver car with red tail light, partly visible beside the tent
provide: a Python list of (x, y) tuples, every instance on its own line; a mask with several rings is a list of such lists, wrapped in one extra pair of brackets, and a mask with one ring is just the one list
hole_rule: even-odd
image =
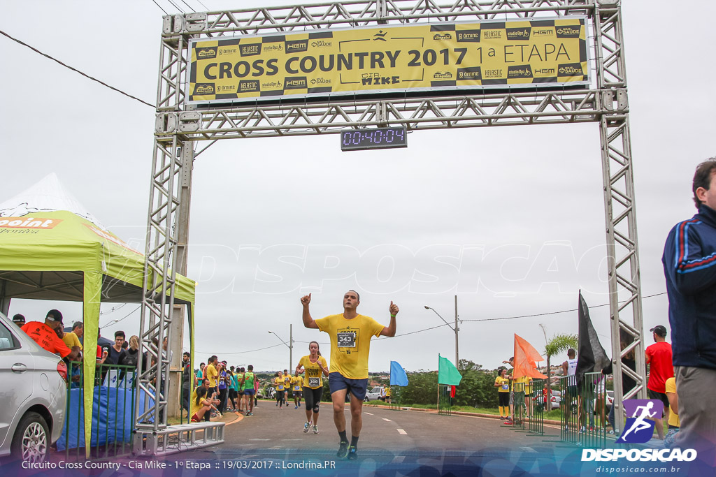
[(67, 365), (0, 313), (0, 456), (42, 462), (62, 433)]

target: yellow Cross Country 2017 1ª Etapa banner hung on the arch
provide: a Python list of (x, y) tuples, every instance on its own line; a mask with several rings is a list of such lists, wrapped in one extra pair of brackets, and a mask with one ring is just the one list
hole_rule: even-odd
[(190, 102), (589, 84), (586, 19), (199, 39)]

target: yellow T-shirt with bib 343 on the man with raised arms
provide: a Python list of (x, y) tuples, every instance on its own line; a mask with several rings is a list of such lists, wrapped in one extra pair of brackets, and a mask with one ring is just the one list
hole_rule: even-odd
[(331, 337), (330, 372), (348, 379), (367, 379), (370, 338), (379, 336), (385, 327), (364, 315), (352, 320), (343, 314), (330, 315), (315, 321), (318, 329)]

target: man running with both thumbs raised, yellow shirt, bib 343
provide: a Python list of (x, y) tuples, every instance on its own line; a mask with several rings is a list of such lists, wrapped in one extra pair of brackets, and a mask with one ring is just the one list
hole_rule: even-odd
[[(400, 311), (390, 302), (390, 325), (383, 326), (373, 318), (359, 315), (356, 308), (360, 296), (349, 290), (343, 297), (343, 313), (329, 315), (319, 320), (311, 318), (309, 312), (311, 294), (301, 297), (303, 305), (302, 319), (306, 328), (318, 328), (331, 338), (331, 366), (328, 384), (333, 401), (333, 421), (336, 424), (341, 443), (338, 457), (351, 460), (358, 458), (357, 446), (360, 430), (363, 426), (362, 409), (368, 388), (368, 355), (370, 339), (373, 336), (395, 336), (395, 315)], [(346, 418), (343, 414), (346, 393), (350, 390), (351, 399), (351, 441), (346, 436)]]

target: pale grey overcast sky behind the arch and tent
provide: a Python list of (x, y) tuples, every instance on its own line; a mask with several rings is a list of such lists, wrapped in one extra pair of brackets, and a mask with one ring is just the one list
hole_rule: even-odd
[[(175, 1), (196, 11), (287, 2), (202, 3)], [(690, 1), (677, 21), (681, 13), (659, 8), (667, 5), (623, 6), (642, 292), (657, 295), (644, 298), (646, 330), (668, 327), (667, 298), (658, 295), (664, 240), (695, 213), (695, 165), (716, 155), (714, 67), (705, 61), (716, 4)], [(4, 1), (0, 29), (154, 103), (163, 14), (151, 0)], [(0, 202), (55, 172), (144, 250), (154, 109), (4, 36), (0, 51)], [(398, 336), (372, 344), (372, 371), (390, 360), (437, 369), (438, 353), (453, 360), (453, 331), (426, 330), (442, 321), (424, 306), (452, 323), (455, 295), (460, 319), (478, 320), (574, 310), (581, 289), (609, 353), (609, 308), (596, 306), (608, 303), (596, 123), (419, 131), (407, 149), (374, 152), (341, 152), (335, 134), (233, 139), (197, 158), (193, 180), (188, 275), (198, 282), (200, 361), (217, 354), (286, 368), (289, 350), (268, 332), (288, 341), (291, 324), (292, 365), (310, 340), (326, 343), (328, 355), (328, 336), (303, 328), (299, 298), (312, 292), (320, 318), (342, 312), (349, 288), (361, 294), (359, 313), (386, 325), (390, 301), (400, 306)], [(10, 313), (42, 319), (49, 308), (66, 322), (81, 318), (75, 303), (14, 300)], [(102, 305), (102, 335), (138, 334), (136, 308)], [(576, 333), (576, 320), (571, 312), (466, 321), (460, 358), (495, 368), (512, 355), (513, 333), (543, 350), (540, 323), (551, 337)]]

